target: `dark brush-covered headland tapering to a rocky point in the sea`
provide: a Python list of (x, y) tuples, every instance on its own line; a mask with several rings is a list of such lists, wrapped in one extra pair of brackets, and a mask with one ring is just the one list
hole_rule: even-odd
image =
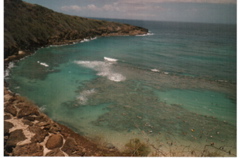
[(147, 29), (54, 12), (21, 0), (4, 1), (4, 58), (19, 50), (78, 42), (96, 36), (136, 35)]

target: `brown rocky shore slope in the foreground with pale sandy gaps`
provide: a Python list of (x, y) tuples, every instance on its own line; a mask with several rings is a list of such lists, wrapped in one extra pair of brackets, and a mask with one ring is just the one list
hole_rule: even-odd
[[(12, 113), (8, 106), (14, 108)], [(52, 121), (26, 98), (4, 88), (5, 156), (120, 156)]]

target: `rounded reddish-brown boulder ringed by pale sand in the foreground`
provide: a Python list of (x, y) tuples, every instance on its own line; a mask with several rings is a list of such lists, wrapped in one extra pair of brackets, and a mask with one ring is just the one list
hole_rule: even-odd
[(63, 145), (63, 138), (60, 134), (51, 135), (46, 143), (48, 149), (60, 148)]

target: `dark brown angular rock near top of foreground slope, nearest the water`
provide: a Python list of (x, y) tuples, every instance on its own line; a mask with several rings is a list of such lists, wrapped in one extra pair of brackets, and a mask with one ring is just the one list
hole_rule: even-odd
[(22, 106), (19, 107), (20, 111), (18, 112), (18, 117), (22, 118), (24, 116), (29, 115), (39, 115), (38, 108), (34, 105), (28, 105), (28, 104), (21, 104)]

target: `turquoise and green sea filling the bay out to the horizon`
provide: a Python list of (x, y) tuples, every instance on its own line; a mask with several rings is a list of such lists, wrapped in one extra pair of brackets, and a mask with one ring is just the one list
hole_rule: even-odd
[(150, 156), (236, 155), (236, 25), (111, 21), (149, 33), (40, 48), (10, 64), (10, 89), (120, 151), (137, 138)]

